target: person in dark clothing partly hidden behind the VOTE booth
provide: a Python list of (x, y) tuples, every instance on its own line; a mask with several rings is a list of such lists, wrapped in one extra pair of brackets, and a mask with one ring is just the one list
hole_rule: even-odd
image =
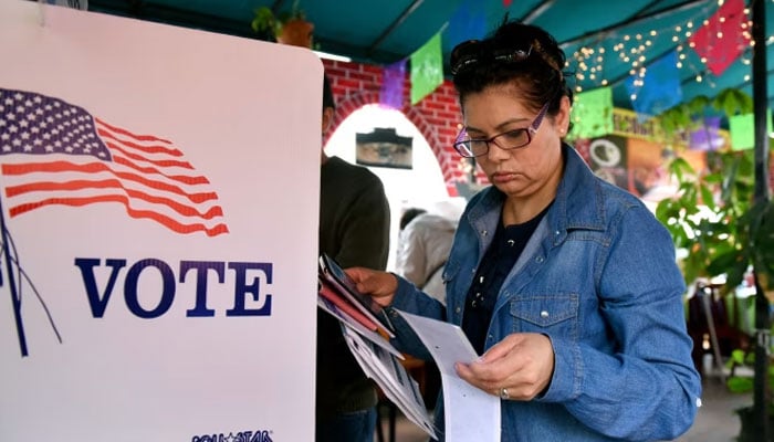
[[(323, 134), (335, 113), (328, 78), (323, 85)], [(389, 254), (389, 204), (368, 169), (321, 152), (320, 253), (343, 266), (385, 269)], [(373, 442), (377, 392), (355, 360), (337, 319), (317, 309), (315, 439)]]

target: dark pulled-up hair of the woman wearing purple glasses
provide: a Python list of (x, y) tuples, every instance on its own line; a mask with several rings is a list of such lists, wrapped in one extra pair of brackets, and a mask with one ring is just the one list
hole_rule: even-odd
[(564, 51), (546, 31), (531, 24), (504, 21), (481, 41), (460, 43), (451, 53), (453, 83), (460, 104), (485, 87), (515, 83), (534, 110), (546, 103), (558, 110), (562, 96), (573, 99), (564, 72)]

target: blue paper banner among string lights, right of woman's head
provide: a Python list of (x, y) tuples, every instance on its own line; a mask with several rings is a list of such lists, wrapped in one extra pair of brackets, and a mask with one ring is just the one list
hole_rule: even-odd
[(682, 101), (676, 51), (656, 60), (626, 81), (626, 90), (637, 118), (644, 122)]

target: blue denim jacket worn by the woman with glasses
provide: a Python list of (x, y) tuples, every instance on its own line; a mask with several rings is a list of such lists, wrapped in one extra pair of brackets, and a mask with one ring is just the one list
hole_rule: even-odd
[[(544, 334), (554, 348), (544, 394), (502, 401), (502, 441), (674, 439), (693, 422), (701, 380), (672, 241), (640, 200), (597, 178), (572, 147), (563, 154), (554, 203), (506, 276), (487, 336), (487, 349), (512, 333)], [(466, 208), (443, 270), (447, 308), (401, 278), (391, 307), (461, 325), (504, 199), (489, 187)], [(396, 344), (429, 358), (393, 317)]]

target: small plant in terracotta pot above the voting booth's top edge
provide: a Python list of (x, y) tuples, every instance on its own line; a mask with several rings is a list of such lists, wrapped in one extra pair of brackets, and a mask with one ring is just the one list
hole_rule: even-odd
[(264, 40), (312, 49), (314, 24), (306, 21), (306, 14), (299, 7), (299, 0), (293, 2), (290, 11), (279, 14), (274, 14), (269, 7), (258, 8), (254, 12), (250, 25)]

